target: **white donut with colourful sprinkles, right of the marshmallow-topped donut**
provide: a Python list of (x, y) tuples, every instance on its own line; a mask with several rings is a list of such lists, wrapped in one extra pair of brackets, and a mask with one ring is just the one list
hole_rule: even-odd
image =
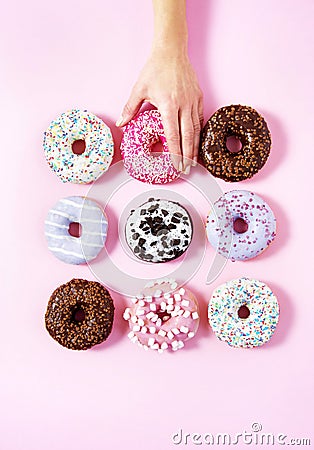
[(279, 304), (261, 281), (238, 278), (222, 284), (212, 294), (208, 320), (215, 335), (231, 347), (252, 348), (265, 344), (279, 319)]

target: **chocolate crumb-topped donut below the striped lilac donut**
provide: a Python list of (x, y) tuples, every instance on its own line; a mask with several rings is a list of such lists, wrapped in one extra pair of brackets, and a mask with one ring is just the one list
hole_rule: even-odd
[(104, 286), (73, 279), (52, 293), (45, 324), (50, 336), (63, 347), (87, 350), (108, 338), (113, 316), (113, 301)]

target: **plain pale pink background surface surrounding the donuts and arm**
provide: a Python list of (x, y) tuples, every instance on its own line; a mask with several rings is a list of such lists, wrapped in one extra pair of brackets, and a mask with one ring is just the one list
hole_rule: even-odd
[[(278, 236), (255, 260), (228, 262), (211, 285), (208, 246), (189, 282), (200, 302), (199, 332), (183, 351), (162, 356), (129, 342), (121, 318), (127, 299), (115, 293), (113, 333), (93, 350), (62, 348), (43, 321), (58, 285), (94, 279), (87, 266), (65, 265), (47, 249), (48, 209), (89, 187), (62, 184), (50, 171), (43, 131), (61, 112), (86, 108), (111, 126), (119, 153), (121, 132), (113, 124), (149, 53), (150, 1), (29, 0), (3, 8), (1, 450), (168, 449), (179, 429), (235, 434), (251, 431), (253, 422), (289, 439), (314, 439), (314, 2), (188, 0), (205, 118), (223, 105), (248, 104), (272, 132), (272, 153), (258, 175), (219, 184), (263, 196)], [(238, 276), (267, 282), (280, 301), (280, 323), (261, 349), (229, 348), (207, 325), (213, 288)]]

